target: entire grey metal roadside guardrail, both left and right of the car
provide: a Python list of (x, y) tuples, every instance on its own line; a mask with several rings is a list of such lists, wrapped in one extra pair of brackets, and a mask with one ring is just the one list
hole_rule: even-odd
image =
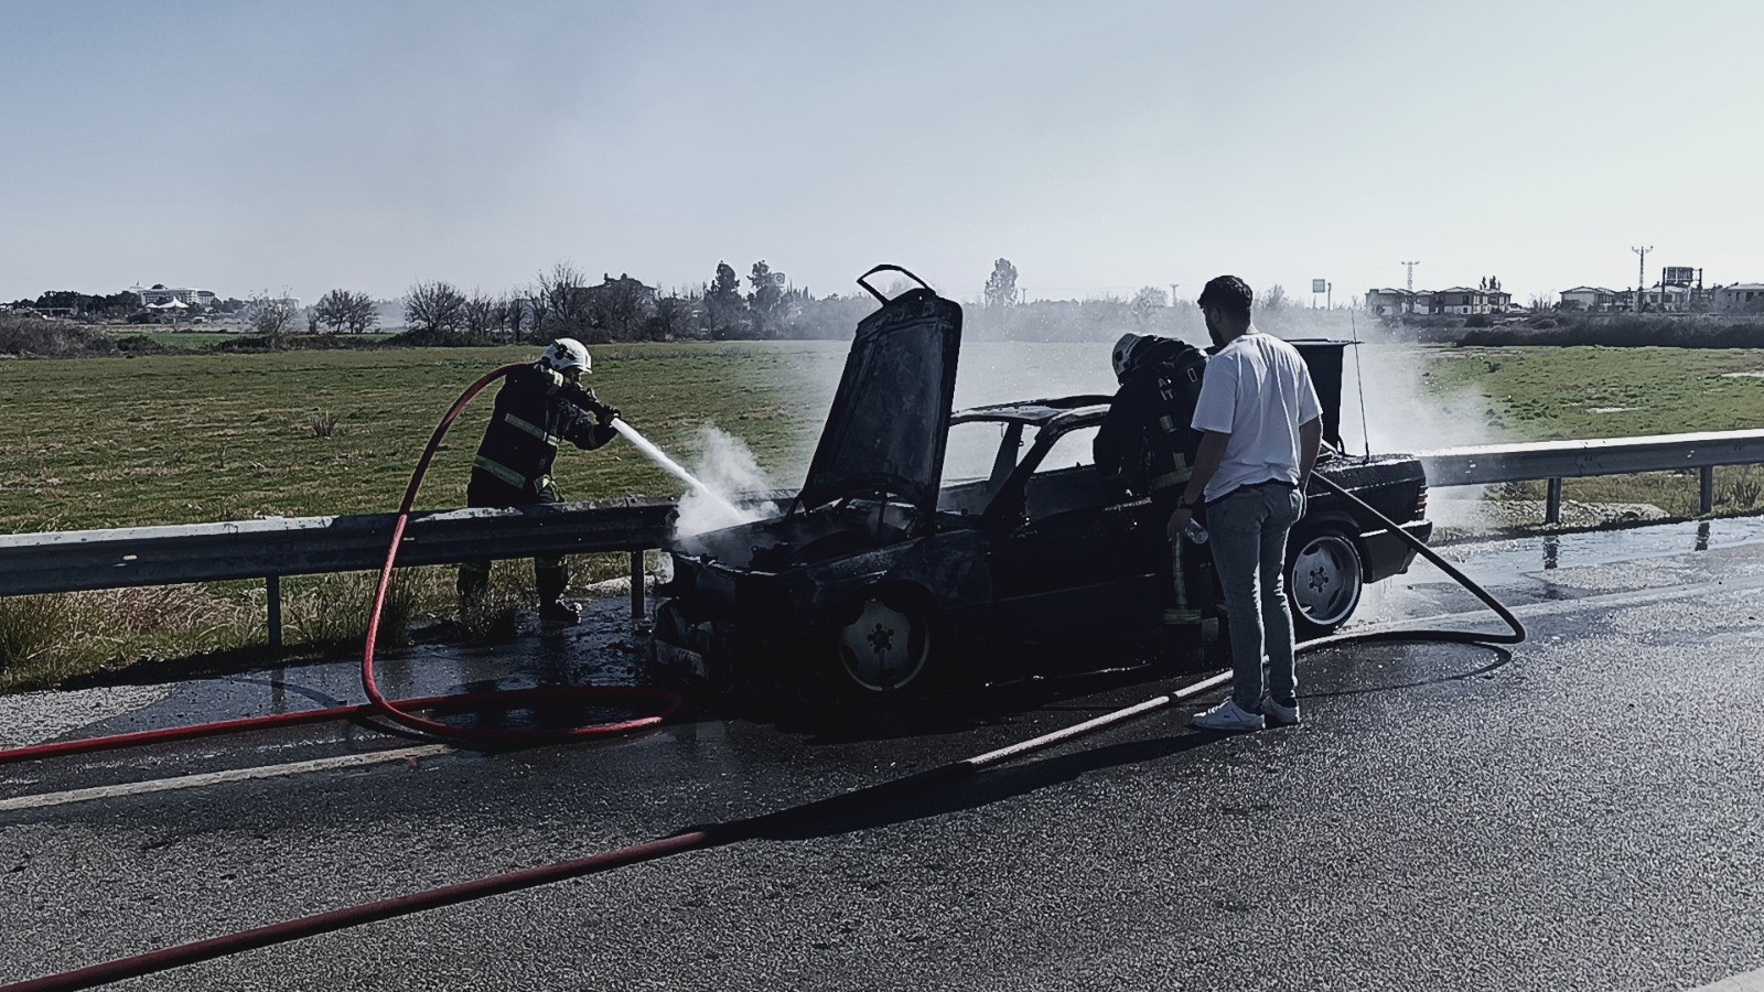
[[(1700, 512), (1715, 500), (1715, 468), (1764, 462), (1764, 431), (1540, 441), (1420, 452), (1427, 484), (1487, 485), (1549, 480), (1547, 522), (1561, 521), (1561, 480), (1589, 475), (1699, 470)], [(767, 492), (785, 501), (792, 494)], [(644, 614), (644, 551), (672, 533), (674, 500), (557, 503), (519, 510), (413, 514), (400, 565), (457, 565), (534, 554), (630, 552), (632, 616)], [(0, 597), (175, 582), (265, 579), (270, 644), (280, 646), (282, 575), (365, 572), (385, 563), (392, 514), (268, 517), (219, 524), (0, 535)]]

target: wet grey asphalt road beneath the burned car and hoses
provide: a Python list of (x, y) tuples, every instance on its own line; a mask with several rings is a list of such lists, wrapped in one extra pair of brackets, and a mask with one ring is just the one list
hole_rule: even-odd
[[(1302, 727), (1164, 710), (762, 838), (118, 988), (1693, 988), (1764, 969), (1764, 524), (1457, 545), (1519, 648), (1302, 662)], [(395, 692), (617, 681), (568, 634)], [(1445, 614), (1448, 620), (1439, 620)], [(1424, 567), (1369, 621), (1496, 628)], [(349, 665), (0, 703), (0, 745), (353, 701)], [(473, 754), (360, 725), (0, 768), (0, 981), (794, 808), (1159, 695)]]

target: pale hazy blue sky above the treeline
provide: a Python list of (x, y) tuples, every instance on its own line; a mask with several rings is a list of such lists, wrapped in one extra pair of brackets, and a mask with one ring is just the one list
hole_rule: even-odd
[(0, 300), (1764, 281), (1764, 4), (0, 0)]

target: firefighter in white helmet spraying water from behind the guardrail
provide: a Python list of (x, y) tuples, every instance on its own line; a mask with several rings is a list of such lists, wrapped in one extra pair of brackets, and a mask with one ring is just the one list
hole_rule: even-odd
[[(556, 503), (557, 485), (550, 471), (557, 445), (570, 441), (582, 450), (594, 450), (614, 438), (612, 422), (619, 411), (600, 402), (594, 390), (582, 385), (591, 365), (580, 341), (559, 337), (538, 362), (508, 372), (496, 394), (496, 411), (483, 429), (483, 441), (478, 443), (478, 457), (471, 464), (467, 507)], [(575, 623), (580, 614), (575, 604), (563, 598), (570, 584), (563, 556), (534, 558), (533, 575), (540, 593), (540, 620)], [(489, 586), (489, 561), (460, 565), (460, 611), (480, 607)]]

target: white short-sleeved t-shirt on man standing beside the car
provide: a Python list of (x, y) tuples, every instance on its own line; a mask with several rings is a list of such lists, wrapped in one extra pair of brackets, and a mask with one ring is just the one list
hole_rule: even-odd
[(1251, 327), (1207, 360), (1194, 429), (1231, 434), (1205, 500), (1238, 485), (1298, 482), (1298, 427), (1323, 417), (1311, 369), (1291, 344)]

